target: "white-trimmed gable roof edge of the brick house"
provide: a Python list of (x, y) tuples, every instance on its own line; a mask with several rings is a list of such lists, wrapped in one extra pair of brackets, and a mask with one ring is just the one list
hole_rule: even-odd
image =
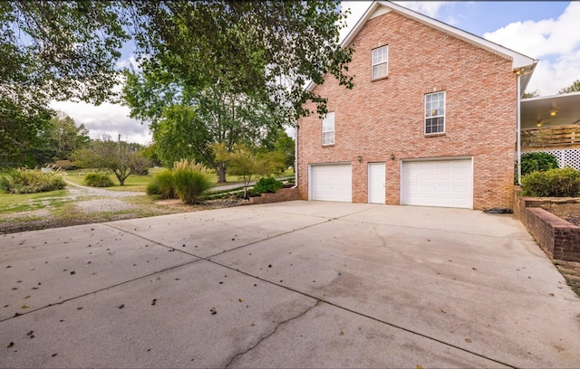
[[(440, 22), (436, 19), (430, 18), (427, 15), (423, 15), (417, 12), (414, 12), (406, 7), (401, 5), (396, 5), (391, 3), (390, 1), (374, 1), (372, 5), (366, 10), (364, 14), (362, 14), (361, 19), (354, 25), (353, 29), (346, 35), (341, 43), (341, 46), (347, 47), (350, 43), (353, 42), (354, 37), (361, 31), (364, 24), (367, 23), (369, 19), (372, 19), (376, 16), (386, 14), (389, 12), (395, 12), (398, 14), (405, 15), (420, 24), (428, 25), (436, 30), (439, 30), (442, 33), (447, 33), (452, 37), (458, 38), (461, 41), (474, 45), (478, 48), (481, 48), (487, 52), (494, 53), (504, 59), (512, 61), (512, 70), (521, 74), (521, 91), (523, 93), (526, 90), (527, 82), (532, 77), (532, 72), (536, 67), (537, 60), (530, 58), (522, 53), (514, 52), (511, 49), (507, 49), (507, 47), (498, 45), (498, 43), (492, 43), (484, 38), (476, 36), (475, 34), (460, 30), (459, 28), (453, 27), (452, 25), (445, 24)], [(314, 89), (315, 83), (311, 82), (306, 90)]]

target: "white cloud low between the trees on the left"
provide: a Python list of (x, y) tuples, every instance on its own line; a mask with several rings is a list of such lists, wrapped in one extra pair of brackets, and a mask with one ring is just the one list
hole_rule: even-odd
[(113, 139), (121, 135), (121, 140), (141, 145), (151, 141), (149, 126), (129, 118), (130, 110), (125, 106), (107, 102), (95, 106), (85, 102), (53, 101), (51, 108), (62, 110), (77, 124), (83, 124), (92, 138), (105, 134)]

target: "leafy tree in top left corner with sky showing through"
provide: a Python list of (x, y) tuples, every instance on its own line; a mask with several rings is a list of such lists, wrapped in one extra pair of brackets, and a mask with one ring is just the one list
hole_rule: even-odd
[(129, 35), (121, 2), (0, 2), (0, 157), (34, 166), (46, 154), (51, 99), (100, 103), (117, 82), (115, 65)]

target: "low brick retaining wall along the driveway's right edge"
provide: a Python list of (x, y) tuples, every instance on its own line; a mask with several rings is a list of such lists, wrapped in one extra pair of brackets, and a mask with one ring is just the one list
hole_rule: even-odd
[(540, 206), (551, 202), (549, 198), (519, 197), (518, 193), (519, 187), (515, 190), (514, 213), (542, 250), (552, 259), (580, 261), (580, 227), (542, 209)]

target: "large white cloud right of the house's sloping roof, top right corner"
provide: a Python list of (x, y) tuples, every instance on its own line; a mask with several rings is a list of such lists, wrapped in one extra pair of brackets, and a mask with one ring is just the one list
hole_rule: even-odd
[(541, 95), (554, 95), (580, 78), (580, 3), (571, 2), (557, 19), (524, 21), (483, 37), (539, 59), (527, 87)]

